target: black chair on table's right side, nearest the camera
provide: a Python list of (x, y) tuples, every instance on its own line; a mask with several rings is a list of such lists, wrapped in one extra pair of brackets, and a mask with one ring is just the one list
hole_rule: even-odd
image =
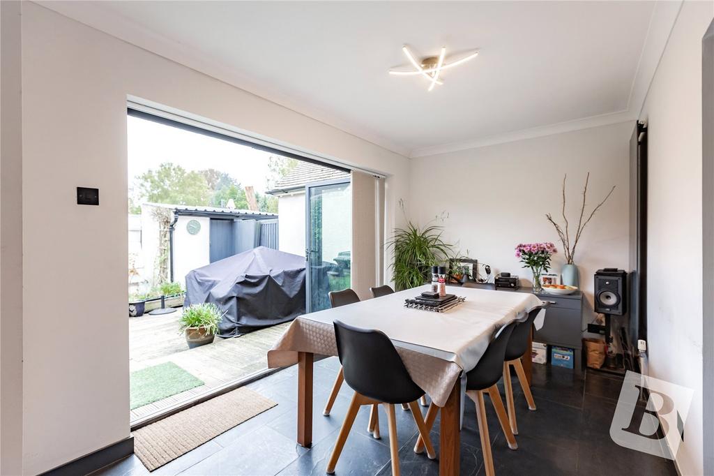
[[(516, 437), (511, 432), (511, 425), (508, 422), (506, 409), (503, 407), (501, 394), (496, 385), (501, 380), (503, 373), (503, 362), (506, 357), (506, 347), (508, 339), (511, 337), (513, 329), (518, 325), (517, 321), (506, 324), (498, 329), (496, 336), (488, 344), (486, 352), (478, 361), (473, 370), (466, 373), (466, 395), (476, 404), (476, 419), (478, 421), (478, 434), (481, 437), (481, 452), (483, 452), (483, 466), (486, 469), (486, 476), (493, 476), (493, 456), (491, 455), (491, 440), (488, 436), (488, 422), (486, 422), (486, 406), (483, 401), (483, 392), (488, 392), (491, 397), (493, 409), (496, 410), (498, 422), (501, 423), (503, 434), (506, 435), (506, 442), (511, 450), (516, 450), (518, 444)], [(431, 430), (438, 408), (432, 403), (426, 412), (426, 427)], [(422, 451), (423, 443), (421, 437), (418, 438), (414, 452)]]

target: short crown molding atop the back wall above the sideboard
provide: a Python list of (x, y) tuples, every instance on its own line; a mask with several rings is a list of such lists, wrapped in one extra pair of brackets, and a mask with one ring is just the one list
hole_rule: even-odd
[(559, 122), (558, 124), (550, 124), (548, 126), (521, 129), (503, 134), (493, 134), (491, 136), (479, 137), (478, 139), (470, 141), (451, 142), (451, 144), (414, 149), (411, 154), (409, 154), (409, 158), (415, 159), (416, 157), (446, 154), (448, 152), (458, 152), (466, 149), (478, 149), (478, 147), (506, 144), (507, 142), (516, 142), (525, 139), (535, 139), (536, 137), (552, 136), (554, 134), (563, 134), (563, 132), (579, 131), (580, 129), (590, 129), (591, 127), (607, 126), (609, 124), (618, 124), (620, 122), (634, 120), (635, 115), (630, 113), (630, 111), (613, 112), (611, 114), (603, 114), (601, 116), (586, 117), (585, 119)]

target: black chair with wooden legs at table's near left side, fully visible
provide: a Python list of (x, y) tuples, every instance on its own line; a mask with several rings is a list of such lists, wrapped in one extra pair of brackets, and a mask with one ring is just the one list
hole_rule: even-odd
[(416, 385), (399, 357), (389, 337), (374, 329), (360, 329), (335, 321), (337, 353), (345, 380), (355, 390), (345, 421), (335, 442), (327, 473), (333, 474), (357, 413), (362, 405), (382, 404), (389, 422), (389, 448), (392, 475), (399, 475), (399, 445), (397, 441), (394, 405), (406, 403), (424, 441), (426, 454), (436, 457), (421, 410), (416, 402), (424, 391)]

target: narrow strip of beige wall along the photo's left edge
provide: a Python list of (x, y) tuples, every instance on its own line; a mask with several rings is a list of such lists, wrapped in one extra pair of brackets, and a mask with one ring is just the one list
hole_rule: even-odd
[(21, 6), (0, 2), (0, 474), (22, 470)]

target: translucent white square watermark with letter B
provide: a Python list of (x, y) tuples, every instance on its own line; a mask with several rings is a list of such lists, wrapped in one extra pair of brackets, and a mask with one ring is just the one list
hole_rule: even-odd
[[(637, 405), (643, 390), (648, 395), (644, 407)], [(694, 390), (688, 387), (628, 371), (610, 424), (610, 437), (630, 450), (674, 460), (684, 439), (684, 422), (693, 395)]]

